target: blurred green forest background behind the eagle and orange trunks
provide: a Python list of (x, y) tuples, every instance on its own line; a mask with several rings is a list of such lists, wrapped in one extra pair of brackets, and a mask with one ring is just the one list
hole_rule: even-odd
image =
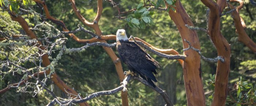
[[(128, 11), (136, 8), (142, 0), (122, 0), (118, 1), (118, 7), (122, 11)], [(249, 0), (245, 0), (244, 6), (240, 10), (240, 16), (244, 19), (246, 24), (246, 33), (255, 42), (256, 41), (256, 6), (249, 3)], [(46, 0), (49, 13), (52, 17), (62, 20), (65, 26), (69, 30), (76, 30), (78, 24), (82, 25), (86, 30), (93, 31), (90, 27), (84, 26), (83, 23), (77, 18), (74, 10), (71, 7), (69, 1), (60, 0)], [(181, 4), (184, 6), (186, 12), (192, 19), (192, 22), (196, 27), (207, 28), (206, 13), (207, 7), (200, 1), (194, 0), (181, 0)], [(238, 6), (239, 3), (232, 3), (234, 6)], [(30, 1), (28, 7), (38, 13), (42, 12), (42, 8), (39, 7), (34, 1)], [(79, 8), (80, 13), (90, 22), (97, 15), (97, 0), (76, 0), (76, 7)], [(162, 5), (165, 7), (165, 5)], [(20, 6), (20, 8), (22, 8)], [(24, 6), (27, 9), (26, 6)], [(170, 8), (171, 10), (172, 8)], [(8, 14), (8, 9), (1, 7), (0, 9), (0, 29), (1, 32), (11, 31), (19, 35), (26, 35), (22, 27), (18, 22), (13, 21)], [(19, 10), (14, 13), (19, 14)], [(163, 49), (175, 49), (178, 53), (183, 54), (182, 39), (180, 33), (177, 30), (176, 25), (171, 20), (167, 11), (151, 10), (152, 15), (148, 16), (152, 19), (151, 24), (146, 24), (145, 28), (135, 28), (129, 26), (127, 20), (118, 16), (117, 8), (113, 7), (108, 1), (103, 1), (103, 11), (101, 19), (98, 23), (99, 28), (102, 31), (102, 35), (116, 34), (118, 29), (125, 29), (128, 37), (138, 37), (144, 41), (150, 43), (157, 48)], [(175, 11), (175, 10), (174, 10)], [(10, 12), (10, 11), (9, 11)], [(31, 14), (27, 12), (22, 14), (26, 22), (31, 28), (34, 28), (37, 22), (43, 22), (39, 15)], [(122, 15), (122, 17), (129, 17), (134, 15), (133, 12)], [(46, 22), (54, 29), (61, 30), (62, 27), (53, 23), (49, 19)], [(38, 26), (40, 27), (40, 26)], [(38, 38), (44, 38), (48, 36), (45, 34), (45, 28), (38, 28), (35, 30), (35, 34)], [(54, 30), (53, 28), (50, 28)], [(62, 31), (62, 30), (61, 30)], [(56, 33), (57, 31), (55, 31)], [(197, 31), (198, 38), (201, 46), (201, 53), (205, 57), (215, 58), (218, 56), (217, 50), (212, 45), (211, 40), (207, 34), (203, 31)], [(231, 14), (226, 14), (221, 17), (221, 33), (227, 39), (227, 42), (231, 45), (231, 58), (230, 58), (230, 75), (227, 94), (226, 105), (227, 106), (241, 106), (241, 103), (248, 105), (256, 102), (256, 56), (248, 47), (243, 43), (238, 42), (238, 34), (234, 26), (234, 20)], [(90, 39), (91, 35), (79, 31), (75, 35), (80, 39)], [(1, 38), (4, 38), (4, 34), (1, 34)], [(65, 35), (66, 48), (80, 48), (86, 43), (76, 42), (74, 39)], [(52, 38), (51, 41), (56, 41), (56, 38)], [(18, 42), (10, 44), (11, 42)], [(17, 48), (28, 50), (30, 45), (19, 45), (20, 41), (3, 40), (0, 42), (0, 89), (4, 89), (10, 84), (18, 83), (26, 75), (26, 72), (11, 69), (5, 66), (4, 61), (7, 60), (4, 53), (10, 52), (9, 59), (17, 60), (19, 56), (22, 56), (22, 50), (12, 50), (6, 47), (16, 46)], [(108, 43), (114, 43), (116, 40), (108, 40)], [(115, 54), (116, 48), (112, 48)], [(36, 48), (33, 49), (33, 53)], [(8, 53), (9, 53), (8, 52)], [(31, 52), (31, 53), (32, 53)], [(159, 57), (154, 53), (148, 52), (153, 58), (155, 58), (162, 67), (156, 75), (158, 79), (157, 86), (166, 91), (171, 101), (176, 106), (186, 106), (186, 92), (184, 87), (184, 79), (182, 73), (182, 66), (177, 60), (168, 60), (166, 58)], [(59, 51), (52, 52), (50, 58), (56, 58)], [(118, 56), (118, 55), (117, 55)], [(53, 61), (50, 60), (50, 61)], [(37, 61), (38, 62), (38, 61)], [(31, 67), (29, 61), (21, 63), (23, 67)], [(34, 66), (34, 65), (33, 65)], [(125, 64), (122, 63), (124, 71), (128, 71)], [(216, 73), (217, 63), (211, 63), (201, 60), (202, 69), (202, 82), (204, 88), (204, 94), (206, 97), (206, 105), (210, 106), (213, 94), (214, 94), (214, 78)], [(115, 65), (105, 50), (100, 46), (89, 47), (82, 52), (66, 53), (61, 56), (61, 59), (57, 61), (57, 65), (54, 66), (54, 72), (67, 84), (69, 87), (74, 88), (81, 96), (86, 96), (98, 91), (111, 90), (120, 86), (120, 80), (116, 72)], [(31, 79), (31, 82), (36, 82)], [(61, 91), (58, 86), (48, 80), (46, 82), (47, 88), (52, 88), (54, 94), (61, 98), (68, 98), (65, 92)], [(238, 87), (239, 85), (239, 87)], [(128, 83), (128, 101), (130, 106), (162, 106), (165, 105), (165, 101), (162, 96), (151, 88), (144, 86), (142, 83), (132, 80)], [(242, 90), (241, 90), (242, 89)], [(29, 89), (30, 90), (30, 89)], [(240, 91), (239, 91), (240, 90)], [(251, 90), (251, 91), (250, 91)], [(31, 88), (33, 91), (33, 87)], [(240, 94), (241, 92), (241, 94)], [(231, 97), (232, 96), (232, 97)], [(1, 106), (44, 106), (52, 101), (53, 97), (45, 90), (38, 92), (34, 95), (33, 92), (24, 92), (21, 87), (10, 88), (7, 92), (0, 94)], [(236, 103), (239, 102), (239, 103)], [(122, 104), (121, 92), (117, 92), (113, 95), (99, 96), (87, 101), (91, 106), (120, 106)], [(248, 103), (248, 104), (246, 104)]]

